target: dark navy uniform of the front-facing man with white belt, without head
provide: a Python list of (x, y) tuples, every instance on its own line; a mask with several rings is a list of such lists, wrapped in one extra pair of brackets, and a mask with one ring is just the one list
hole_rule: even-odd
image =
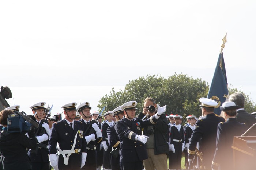
[[(82, 152), (86, 152), (86, 140), (84, 139), (84, 127), (82, 122), (74, 120), (74, 130), (68, 125), (67, 120), (63, 119), (60, 122), (53, 123), (52, 135), (49, 139), (49, 154), (57, 153), (57, 143), (61, 150), (71, 150), (75, 135), (76, 145), (74, 149), (81, 149), (78, 153), (72, 153), (68, 160), (68, 165), (64, 165), (63, 156), (59, 155), (59, 169), (80, 169)], [(67, 154), (66, 154), (67, 156)]]

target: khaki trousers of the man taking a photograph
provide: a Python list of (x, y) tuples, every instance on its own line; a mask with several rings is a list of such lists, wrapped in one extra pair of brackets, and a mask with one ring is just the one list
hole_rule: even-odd
[(148, 159), (143, 161), (145, 170), (167, 170), (167, 155), (155, 155), (154, 149), (147, 149)]

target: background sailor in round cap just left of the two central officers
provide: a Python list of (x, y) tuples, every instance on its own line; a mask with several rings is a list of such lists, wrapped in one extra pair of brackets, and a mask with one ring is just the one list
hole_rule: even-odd
[(105, 113), (106, 121), (102, 124), (102, 144), (104, 148), (104, 158), (103, 158), (103, 168), (105, 170), (111, 169), (110, 164), (110, 152), (112, 151), (111, 146), (109, 146), (107, 129), (112, 126), (114, 122), (112, 121), (112, 111), (108, 111)]

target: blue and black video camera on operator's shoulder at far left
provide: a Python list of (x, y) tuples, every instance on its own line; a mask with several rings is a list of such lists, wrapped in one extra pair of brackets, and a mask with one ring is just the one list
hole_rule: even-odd
[(7, 133), (29, 132), (32, 126), (38, 127), (38, 124), (25, 112), (14, 111), (7, 118)]

